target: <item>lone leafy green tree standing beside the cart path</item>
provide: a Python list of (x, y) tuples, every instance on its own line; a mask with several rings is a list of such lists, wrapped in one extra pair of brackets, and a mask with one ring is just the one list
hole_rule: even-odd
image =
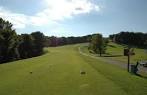
[(106, 43), (101, 34), (94, 34), (92, 36), (89, 49), (100, 54), (100, 56), (105, 53)]

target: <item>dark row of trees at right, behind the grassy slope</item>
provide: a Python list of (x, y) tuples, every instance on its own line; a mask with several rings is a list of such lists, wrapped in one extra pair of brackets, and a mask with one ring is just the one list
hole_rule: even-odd
[(147, 48), (147, 33), (120, 32), (110, 35), (109, 38), (116, 43)]

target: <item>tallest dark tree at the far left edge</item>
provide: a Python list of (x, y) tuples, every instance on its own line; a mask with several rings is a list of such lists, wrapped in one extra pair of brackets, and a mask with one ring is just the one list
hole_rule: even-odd
[(0, 63), (19, 57), (18, 36), (12, 26), (10, 22), (0, 18)]

